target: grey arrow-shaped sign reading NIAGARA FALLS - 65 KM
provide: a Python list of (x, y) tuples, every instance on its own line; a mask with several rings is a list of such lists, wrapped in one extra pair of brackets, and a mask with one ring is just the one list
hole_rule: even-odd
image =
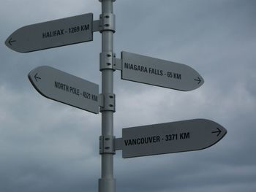
[(121, 78), (179, 91), (192, 91), (203, 85), (203, 77), (190, 66), (121, 52)]

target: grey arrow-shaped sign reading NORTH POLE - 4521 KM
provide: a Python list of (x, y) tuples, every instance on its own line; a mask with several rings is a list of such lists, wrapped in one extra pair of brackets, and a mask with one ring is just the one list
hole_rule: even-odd
[(39, 66), (29, 73), (29, 80), (42, 96), (81, 110), (99, 113), (99, 85), (61, 72), (50, 66)]

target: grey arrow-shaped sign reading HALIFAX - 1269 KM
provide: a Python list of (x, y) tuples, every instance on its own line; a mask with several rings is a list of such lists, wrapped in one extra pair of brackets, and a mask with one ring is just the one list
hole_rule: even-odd
[(5, 45), (26, 53), (93, 40), (93, 14), (51, 20), (24, 26), (7, 38)]

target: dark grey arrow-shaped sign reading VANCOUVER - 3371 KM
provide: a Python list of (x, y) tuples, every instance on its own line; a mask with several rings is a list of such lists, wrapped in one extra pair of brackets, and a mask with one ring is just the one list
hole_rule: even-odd
[(206, 119), (123, 128), (116, 150), (123, 150), (123, 158), (203, 150), (226, 133), (218, 123)]

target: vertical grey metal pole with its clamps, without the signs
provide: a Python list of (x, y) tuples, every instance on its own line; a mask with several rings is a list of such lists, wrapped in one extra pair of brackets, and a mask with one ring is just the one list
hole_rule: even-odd
[(102, 155), (102, 177), (99, 179), (99, 192), (115, 192), (116, 180), (113, 178), (113, 112), (115, 112), (115, 95), (113, 94), (113, 33), (115, 32), (115, 15), (113, 1), (99, 0), (102, 3), (100, 15), (100, 32), (102, 33), (102, 53), (100, 53), (100, 71), (102, 72), (102, 136), (100, 137), (100, 154)]

